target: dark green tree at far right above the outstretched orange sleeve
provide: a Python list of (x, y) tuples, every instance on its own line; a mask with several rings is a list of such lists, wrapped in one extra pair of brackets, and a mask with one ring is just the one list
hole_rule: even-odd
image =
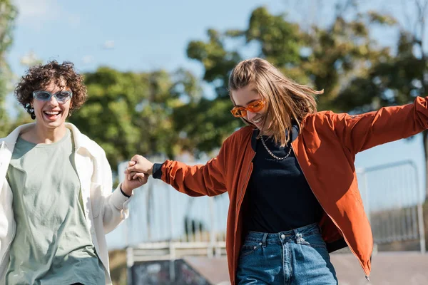
[[(428, 50), (425, 39), (428, 1), (412, 0), (408, 4), (412, 4), (408, 26), (399, 24), (390, 16), (369, 13), (370, 19), (376, 23), (394, 25), (399, 35), (395, 51), (380, 54), (365, 68), (365, 72), (350, 78), (335, 100), (335, 105), (342, 110), (377, 110), (382, 106), (412, 103), (417, 96), (428, 95)], [(422, 138), (428, 180), (427, 130), (422, 133)]]

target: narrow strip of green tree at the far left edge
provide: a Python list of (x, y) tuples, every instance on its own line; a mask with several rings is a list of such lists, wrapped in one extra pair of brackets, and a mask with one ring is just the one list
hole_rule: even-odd
[(6, 53), (12, 43), (12, 31), (16, 18), (16, 7), (10, 0), (0, 0), (0, 138), (9, 133), (9, 117), (5, 108), (11, 71), (6, 63)]

